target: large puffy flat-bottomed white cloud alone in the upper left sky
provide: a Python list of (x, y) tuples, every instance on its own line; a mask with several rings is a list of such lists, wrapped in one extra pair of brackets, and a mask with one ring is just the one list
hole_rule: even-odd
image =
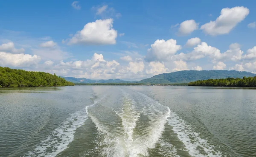
[(109, 45), (116, 44), (117, 31), (113, 28), (113, 19), (96, 20), (84, 25), (68, 44)]

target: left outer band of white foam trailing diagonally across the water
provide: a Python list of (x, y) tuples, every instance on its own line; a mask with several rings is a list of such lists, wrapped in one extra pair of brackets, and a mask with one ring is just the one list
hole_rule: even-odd
[[(98, 101), (90, 106), (93, 106), (96, 103), (98, 103)], [(55, 157), (61, 151), (67, 149), (68, 144), (74, 140), (76, 129), (82, 126), (87, 120), (87, 107), (71, 114), (69, 118), (62, 122), (47, 138), (42, 140), (35, 149), (29, 151), (25, 156)]]

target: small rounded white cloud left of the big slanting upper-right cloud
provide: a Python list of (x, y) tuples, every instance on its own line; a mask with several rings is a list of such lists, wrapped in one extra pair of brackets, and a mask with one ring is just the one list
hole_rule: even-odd
[(195, 20), (186, 20), (180, 23), (179, 34), (188, 35), (198, 29), (198, 23)]

